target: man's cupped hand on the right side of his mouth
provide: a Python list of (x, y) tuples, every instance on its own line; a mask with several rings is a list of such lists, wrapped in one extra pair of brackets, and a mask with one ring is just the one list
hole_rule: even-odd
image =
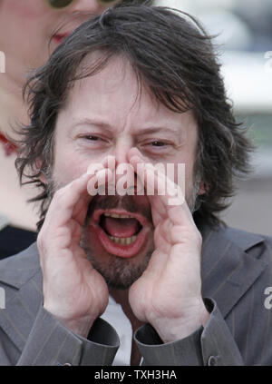
[[(154, 224), (154, 251), (147, 269), (129, 292), (135, 316), (151, 323), (164, 342), (185, 338), (209, 319), (201, 297), (201, 235), (193, 221), (178, 186), (147, 163), (141, 153), (132, 149), (129, 159), (145, 188), (154, 182), (154, 195), (149, 195)], [(163, 195), (158, 189), (168, 182)], [(160, 189), (161, 191), (162, 189)], [(176, 197), (175, 197), (176, 193)], [(176, 204), (170, 205), (175, 197)]]

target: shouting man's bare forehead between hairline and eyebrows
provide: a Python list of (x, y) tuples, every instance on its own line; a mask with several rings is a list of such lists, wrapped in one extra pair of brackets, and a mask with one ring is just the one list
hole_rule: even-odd
[[(89, 58), (90, 60), (90, 58)], [(106, 72), (105, 72), (106, 71)], [(104, 74), (102, 74), (104, 72)], [(102, 76), (102, 77), (97, 77)], [(161, 103), (158, 98), (152, 93), (151, 88), (144, 82), (144, 79), (142, 78), (141, 74), (131, 65), (130, 61), (122, 56), (113, 56), (107, 65), (102, 68), (102, 70), (99, 73), (94, 74), (93, 76), (89, 77), (96, 77), (96, 84), (94, 85), (94, 89), (97, 86), (98, 92), (101, 94), (105, 94), (105, 98), (101, 99), (101, 105), (102, 109), (98, 109), (99, 113), (95, 113), (93, 111), (92, 107), (89, 108), (88, 104), (82, 104), (77, 102), (77, 99), (81, 102), (84, 99), (86, 100), (86, 103), (88, 103), (88, 93), (92, 93), (92, 81), (91, 83), (87, 84), (86, 79), (83, 78), (81, 80), (77, 80), (74, 82), (73, 87), (70, 90), (69, 93), (69, 102), (68, 105), (66, 105), (66, 113), (70, 113), (71, 106), (73, 108), (73, 117), (75, 118), (75, 124), (77, 120), (83, 120), (85, 117), (86, 119), (90, 119), (90, 121), (97, 120), (97, 122), (94, 122), (96, 125), (100, 125), (102, 127), (102, 124), (104, 125), (104, 128), (107, 128), (107, 125), (109, 125), (109, 128), (114, 131), (116, 129), (121, 131), (131, 131), (133, 134), (149, 134), (151, 131), (153, 133), (158, 133), (158, 125), (161, 127), (161, 131), (163, 128), (170, 127), (171, 118), (173, 117), (174, 113), (169, 108), (167, 108), (166, 105)], [(113, 80), (112, 80), (113, 78)], [(110, 80), (108, 84), (108, 80)], [(86, 85), (87, 84), (87, 85)], [(123, 86), (122, 86), (123, 84)], [(104, 89), (105, 87), (105, 89)], [(112, 100), (111, 100), (111, 93), (117, 92), (117, 100), (118, 100), (118, 92), (121, 93), (121, 89), (124, 89), (124, 93), (128, 93), (131, 97), (131, 100), (123, 99), (121, 98), (121, 105), (117, 103), (117, 108), (112, 108)], [(126, 89), (127, 88), (127, 89)], [(130, 88), (132, 91), (130, 93), (130, 90), (128, 92), (128, 88)], [(90, 90), (90, 91), (89, 91)], [(86, 94), (86, 98), (82, 97), (81, 95)], [(93, 96), (92, 96), (93, 97)], [(91, 103), (92, 103), (92, 97), (91, 97)], [(126, 102), (129, 102), (129, 104), (126, 105)], [(94, 99), (94, 103), (95, 99)], [(114, 103), (114, 100), (113, 100)], [(71, 105), (72, 104), (72, 105)], [(81, 108), (81, 106), (83, 107)], [(108, 109), (109, 105), (109, 109)], [(99, 108), (99, 104), (96, 105)], [(102, 114), (104, 108), (104, 112)], [(89, 110), (89, 111), (88, 111)], [(139, 114), (139, 112), (143, 112), (143, 114)], [(166, 121), (166, 123), (161, 122), (161, 119), (165, 118), (167, 120), (168, 113), (170, 116), (170, 123)], [(185, 113), (185, 115), (187, 115)], [(177, 113), (178, 115), (179, 113)], [(180, 116), (184, 113), (180, 113)], [(106, 117), (106, 118), (105, 118)], [(140, 120), (141, 119), (141, 120)], [(181, 118), (182, 119), (182, 118)], [(182, 141), (184, 141), (184, 132), (187, 131), (183, 128), (184, 123), (182, 123), (180, 119), (180, 129), (177, 128), (177, 130), (173, 129), (173, 134), (175, 131), (177, 131), (177, 135)], [(133, 121), (134, 120), (134, 121)], [(139, 122), (140, 120), (140, 122)], [(186, 124), (186, 118), (185, 118), (185, 124)], [(135, 122), (139, 122), (138, 124)], [(90, 123), (90, 122), (87, 122)], [(92, 122), (91, 122), (92, 123)], [(74, 124), (73, 124), (74, 125)], [(148, 126), (145, 132), (142, 131), (142, 128), (144, 129), (144, 125)], [(154, 128), (153, 128), (154, 126)], [(176, 123), (175, 123), (176, 126)]]

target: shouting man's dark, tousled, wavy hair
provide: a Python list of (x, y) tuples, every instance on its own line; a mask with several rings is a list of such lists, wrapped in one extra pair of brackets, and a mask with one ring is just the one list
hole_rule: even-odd
[[(94, 52), (100, 52), (95, 61)], [(22, 184), (39, 187), (32, 199), (41, 202), (38, 229), (50, 203), (40, 176), (53, 165), (57, 115), (73, 83), (97, 74), (116, 55), (130, 62), (140, 85), (147, 85), (160, 103), (177, 113), (193, 111), (199, 127), (195, 170), (206, 186), (194, 218), (216, 226), (234, 193), (235, 177), (249, 170), (252, 146), (233, 116), (211, 37), (188, 14), (143, 4), (120, 5), (84, 22), (26, 84), (31, 123), (23, 127), (16, 167)], [(86, 56), (90, 60), (83, 69)]]

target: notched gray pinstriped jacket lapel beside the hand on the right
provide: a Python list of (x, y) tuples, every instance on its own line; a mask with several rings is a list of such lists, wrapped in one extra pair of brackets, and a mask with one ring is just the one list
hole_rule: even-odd
[(264, 238), (221, 227), (202, 232), (202, 295), (216, 300), (226, 317), (266, 267), (266, 263), (247, 251)]

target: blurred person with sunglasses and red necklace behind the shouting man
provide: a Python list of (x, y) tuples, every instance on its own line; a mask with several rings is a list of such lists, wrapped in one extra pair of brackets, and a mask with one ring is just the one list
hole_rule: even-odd
[[(128, 3), (129, 0), (126, 0)], [(46, 62), (63, 39), (90, 15), (121, 0), (0, 0), (0, 258), (35, 241), (31, 186), (20, 188), (15, 170), (14, 128), (27, 123), (22, 88), (29, 71)]]

